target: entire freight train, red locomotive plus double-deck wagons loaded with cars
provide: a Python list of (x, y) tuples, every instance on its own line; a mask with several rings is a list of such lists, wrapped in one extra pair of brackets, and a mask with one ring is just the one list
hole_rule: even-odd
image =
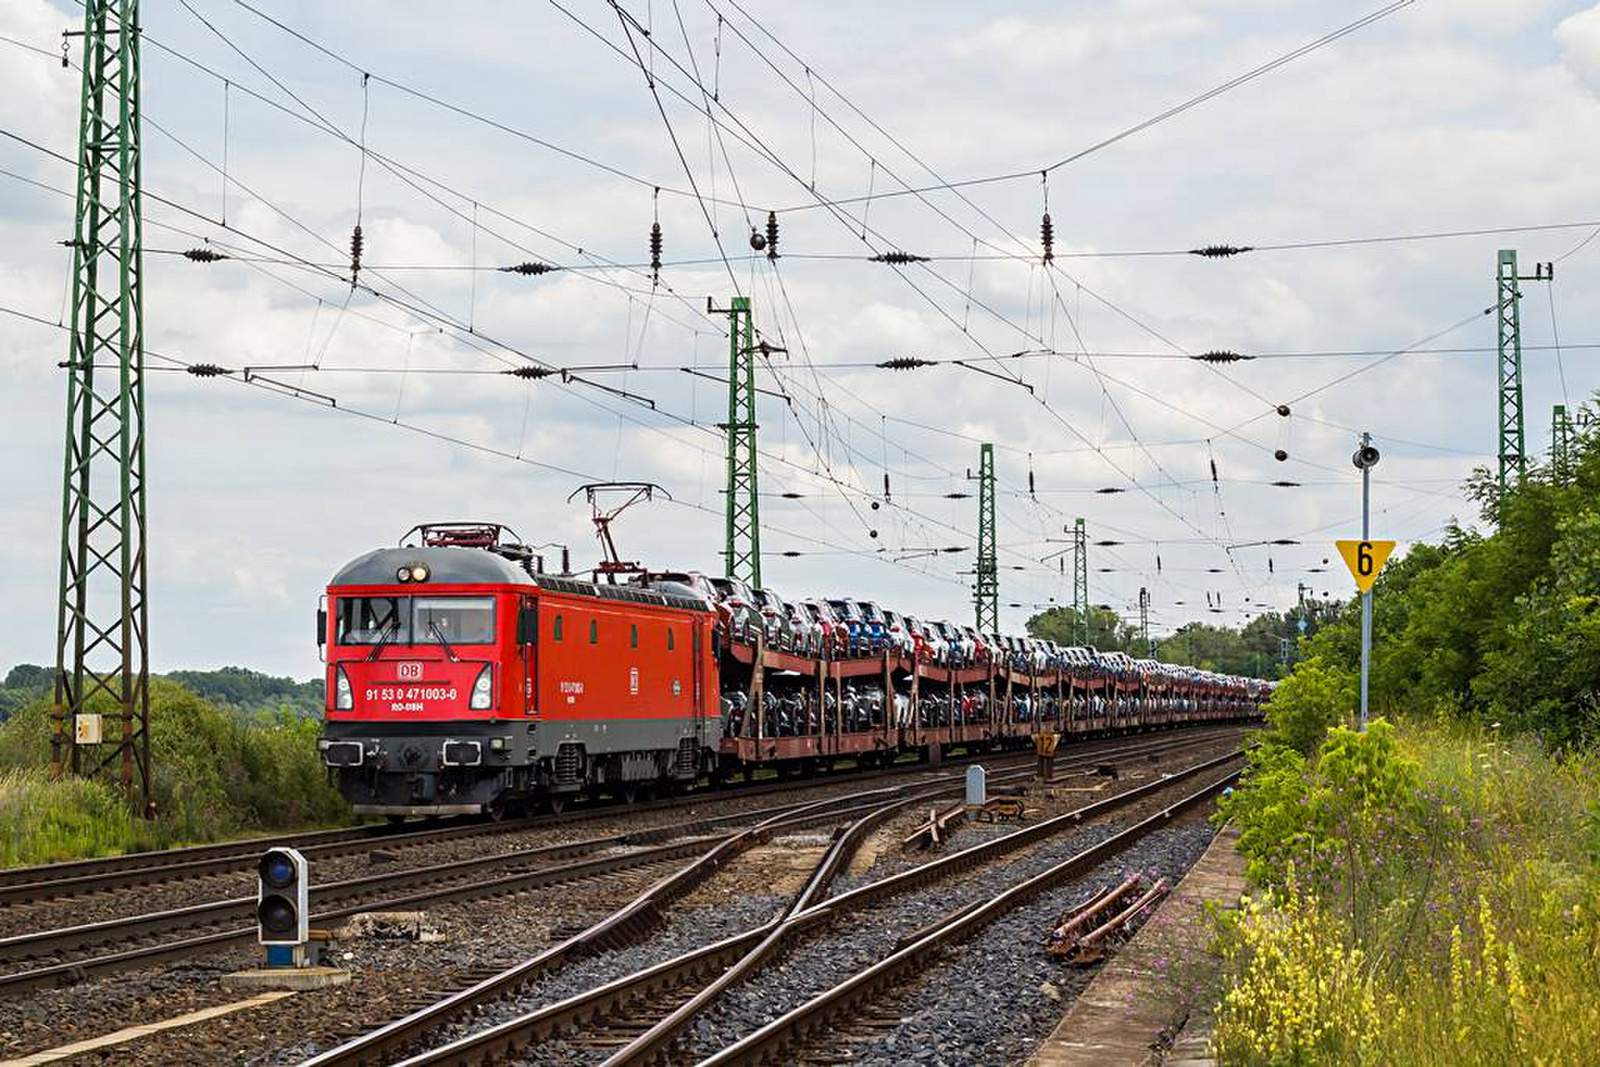
[(416, 526), (328, 584), (318, 742), (360, 814), (810, 773), (837, 760), (1259, 717), (1270, 683), (691, 571), (546, 574), (494, 523)]

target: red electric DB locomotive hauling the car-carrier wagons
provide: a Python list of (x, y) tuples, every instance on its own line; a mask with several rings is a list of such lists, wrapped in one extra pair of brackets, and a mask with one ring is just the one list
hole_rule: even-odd
[(330, 582), (322, 749), (357, 813), (536, 795), (560, 809), (584, 789), (693, 782), (714, 758), (710, 605), (686, 587), (542, 574), (507, 534), (418, 526)]

